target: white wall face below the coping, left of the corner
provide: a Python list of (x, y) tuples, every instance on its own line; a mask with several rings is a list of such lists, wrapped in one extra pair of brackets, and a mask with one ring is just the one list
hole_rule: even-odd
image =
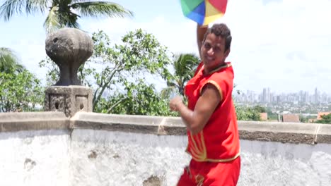
[(63, 130), (0, 132), (0, 185), (70, 185)]

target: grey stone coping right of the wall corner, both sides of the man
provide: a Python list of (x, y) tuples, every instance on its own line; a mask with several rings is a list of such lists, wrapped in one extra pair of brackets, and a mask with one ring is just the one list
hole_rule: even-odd
[[(178, 117), (151, 117), (77, 113), (71, 118), (72, 128), (185, 135), (186, 128)], [(277, 123), (238, 121), (241, 140), (283, 143), (331, 143), (331, 125), (317, 123)]]

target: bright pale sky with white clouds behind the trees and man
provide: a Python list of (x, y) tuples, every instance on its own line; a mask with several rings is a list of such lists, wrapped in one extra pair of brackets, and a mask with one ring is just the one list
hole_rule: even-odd
[[(4, 0), (0, 0), (2, 4)], [(183, 16), (180, 0), (114, 0), (134, 18), (83, 18), (82, 30), (104, 30), (113, 42), (141, 28), (174, 53), (198, 54), (196, 23)], [(233, 41), (227, 61), (240, 90), (331, 94), (331, 0), (229, 0), (225, 15)], [(23, 65), (45, 80), (38, 66), (45, 58), (46, 15), (0, 20), (0, 46), (16, 51)], [(211, 23), (211, 26), (214, 23)], [(160, 82), (160, 86), (165, 85)]]

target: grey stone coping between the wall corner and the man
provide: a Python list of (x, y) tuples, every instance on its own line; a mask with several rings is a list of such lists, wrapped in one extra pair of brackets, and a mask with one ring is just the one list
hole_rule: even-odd
[[(166, 125), (165, 125), (166, 124)], [(76, 113), (71, 128), (139, 132), (155, 135), (185, 135), (180, 118), (159, 116), (116, 115), (103, 113)]]

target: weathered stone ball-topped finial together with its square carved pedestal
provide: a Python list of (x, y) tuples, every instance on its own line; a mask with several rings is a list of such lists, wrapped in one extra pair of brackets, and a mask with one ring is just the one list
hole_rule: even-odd
[(93, 40), (75, 28), (63, 28), (46, 38), (46, 54), (57, 63), (59, 81), (46, 89), (45, 111), (61, 111), (72, 117), (78, 111), (91, 112), (93, 92), (78, 80), (77, 71), (93, 54)]

